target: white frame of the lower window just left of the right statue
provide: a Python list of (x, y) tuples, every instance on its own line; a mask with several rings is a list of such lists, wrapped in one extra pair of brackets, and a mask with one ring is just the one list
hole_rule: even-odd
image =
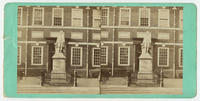
[[(120, 49), (128, 48), (128, 64), (120, 64)], [(129, 66), (130, 65), (130, 47), (129, 46), (120, 46), (118, 47), (118, 66)]]

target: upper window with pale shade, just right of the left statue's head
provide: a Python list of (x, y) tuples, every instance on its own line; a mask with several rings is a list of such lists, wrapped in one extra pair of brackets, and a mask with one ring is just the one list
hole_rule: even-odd
[(83, 26), (83, 10), (72, 9), (72, 26), (82, 27)]

